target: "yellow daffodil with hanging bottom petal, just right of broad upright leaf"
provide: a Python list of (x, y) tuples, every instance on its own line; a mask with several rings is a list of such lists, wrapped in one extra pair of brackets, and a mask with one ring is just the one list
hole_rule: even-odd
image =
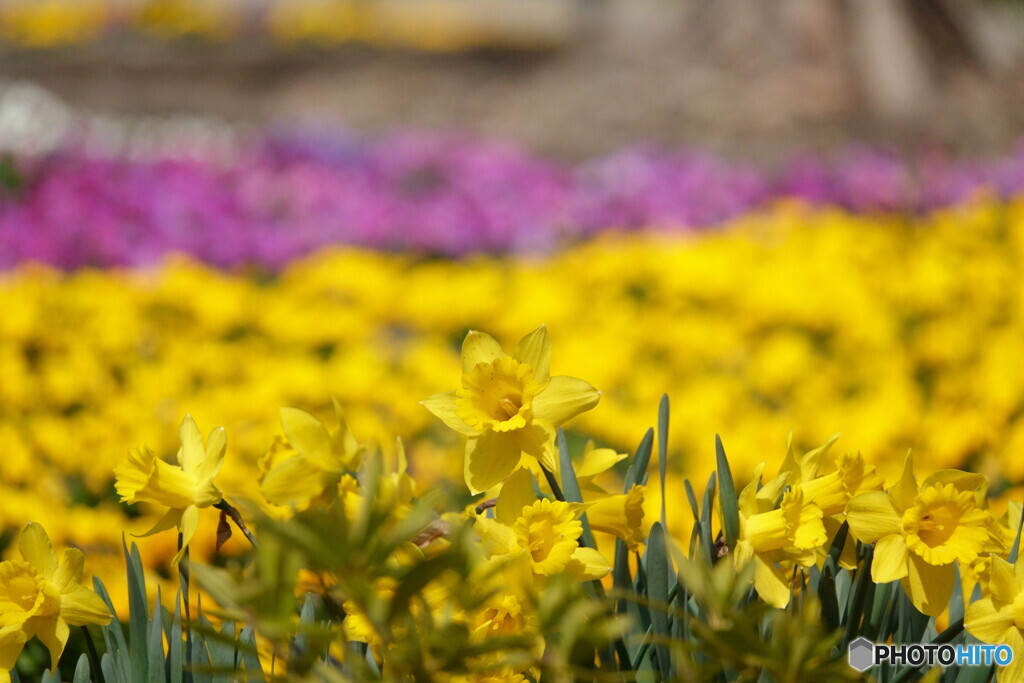
[(800, 488), (782, 494), (776, 508), (788, 475), (775, 477), (759, 490), (763, 468), (763, 464), (758, 466), (737, 501), (739, 538), (733, 561), (737, 568), (753, 562), (758, 595), (774, 607), (784, 607), (790, 602), (787, 568), (793, 563), (814, 564), (817, 549), (825, 542), (825, 529), (821, 508), (808, 501)]

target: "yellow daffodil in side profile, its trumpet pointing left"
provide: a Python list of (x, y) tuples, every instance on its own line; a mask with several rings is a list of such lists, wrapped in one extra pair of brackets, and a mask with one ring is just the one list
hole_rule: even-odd
[(213, 478), (220, 472), (227, 447), (223, 427), (210, 432), (206, 445), (191, 416), (178, 429), (181, 447), (178, 465), (165, 463), (147, 450), (133, 450), (114, 470), (117, 492), (125, 503), (153, 503), (166, 506), (164, 517), (143, 536), (177, 527), (181, 547), (171, 561), (176, 565), (199, 527), (199, 511), (221, 501)]

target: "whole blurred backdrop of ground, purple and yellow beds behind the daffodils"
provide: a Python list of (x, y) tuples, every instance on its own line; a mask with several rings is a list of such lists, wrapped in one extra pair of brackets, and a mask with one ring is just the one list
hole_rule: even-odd
[(542, 323), (602, 390), (574, 453), (669, 394), (680, 538), (716, 433), (740, 480), (842, 432), (1009, 495), (1022, 134), (1011, 0), (0, 0), (0, 545), (41, 521), (123, 604), (129, 447), (224, 425), (259, 501), (333, 396), (463, 496), (418, 401)]

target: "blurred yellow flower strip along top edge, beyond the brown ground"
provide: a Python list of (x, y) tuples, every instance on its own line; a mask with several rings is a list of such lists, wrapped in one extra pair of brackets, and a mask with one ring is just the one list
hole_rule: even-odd
[(258, 27), (282, 45), (543, 48), (565, 40), (571, 16), (570, 3), (558, 0), (5, 0), (0, 38), (55, 47), (130, 27), (163, 39), (225, 41)]

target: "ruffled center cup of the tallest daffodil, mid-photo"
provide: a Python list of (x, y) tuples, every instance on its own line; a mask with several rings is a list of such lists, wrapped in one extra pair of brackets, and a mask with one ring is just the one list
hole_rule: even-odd
[(462, 376), (456, 391), (459, 417), (476, 429), (511, 431), (525, 427), (541, 386), (532, 369), (511, 356), (478, 362)]

